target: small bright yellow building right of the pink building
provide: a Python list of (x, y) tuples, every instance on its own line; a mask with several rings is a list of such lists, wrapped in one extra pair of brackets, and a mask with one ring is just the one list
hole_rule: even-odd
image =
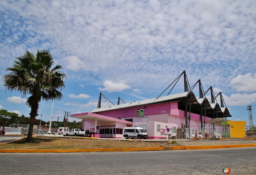
[(222, 126), (230, 127), (230, 138), (245, 138), (246, 121), (225, 121)]

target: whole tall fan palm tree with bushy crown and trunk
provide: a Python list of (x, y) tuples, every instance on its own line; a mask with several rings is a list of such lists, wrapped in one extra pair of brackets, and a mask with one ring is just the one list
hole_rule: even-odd
[(26, 50), (24, 55), (16, 57), (12, 67), (6, 69), (4, 86), (8, 90), (20, 91), (28, 97), (26, 104), (31, 108), (27, 141), (32, 140), (32, 132), (36, 116), (38, 116), (41, 100), (61, 100), (61, 89), (65, 87), (66, 74), (59, 71), (61, 65), (53, 65), (53, 56), (48, 49), (38, 50), (36, 56)]

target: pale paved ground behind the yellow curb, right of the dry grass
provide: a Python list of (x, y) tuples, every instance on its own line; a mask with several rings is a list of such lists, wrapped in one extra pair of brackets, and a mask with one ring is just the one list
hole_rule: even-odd
[(256, 141), (177, 141), (182, 146), (256, 144)]

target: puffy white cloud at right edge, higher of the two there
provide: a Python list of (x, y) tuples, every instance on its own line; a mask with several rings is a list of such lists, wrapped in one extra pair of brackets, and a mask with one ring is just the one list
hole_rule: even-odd
[(230, 81), (230, 85), (240, 92), (256, 91), (256, 73), (237, 75), (235, 79)]

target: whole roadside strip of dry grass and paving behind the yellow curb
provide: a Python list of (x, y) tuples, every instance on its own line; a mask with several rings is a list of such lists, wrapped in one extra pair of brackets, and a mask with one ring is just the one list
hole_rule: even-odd
[[(73, 138), (35, 137), (27, 143), (25, 139), (13, 143), (0, 145), (0, 149), (84, 149), (84, 148), (138, 148), (138, 147), (167, 147), (167, 146), (199, 146), (199, 145), (234, 145), (253, 144), (256, 141), (179, 141), (171, 142), (144, 142), (128, 140), (91, 140)], [(170, 140), (172, 141), (172, 140)]]

